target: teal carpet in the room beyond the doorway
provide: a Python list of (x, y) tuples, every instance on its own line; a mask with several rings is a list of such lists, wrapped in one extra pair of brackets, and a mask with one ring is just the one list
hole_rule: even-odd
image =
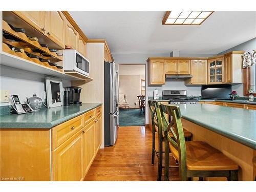
[(145, 114), (139, 109), (119, 109), (119, 126), (144, 126)]

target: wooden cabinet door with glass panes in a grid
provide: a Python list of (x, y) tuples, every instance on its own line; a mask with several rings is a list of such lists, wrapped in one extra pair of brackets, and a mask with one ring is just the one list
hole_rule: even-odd
[(224, 80), (224, 57), (208, 60), (208, 84), (220, 84)]

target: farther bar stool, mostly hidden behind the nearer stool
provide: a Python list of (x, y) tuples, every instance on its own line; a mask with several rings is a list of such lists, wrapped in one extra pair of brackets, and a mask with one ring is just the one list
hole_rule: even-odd
[[(157, 115), (156, 115), (156, 110), (159, 109), (159, 103), (157, 101), (153, 100), (148, 100), (148, 105), (150, 107), (150, 112), (151, 112), (151, 120), (152, 120), (152, 160), (151, 163), (155, 164), (155, 155), (158, 159), (158, 173), (157, 173), (157, 180), (161, 181), (162, 177), (162, 168), (163, 166), (163, 142), (164, 142), (164, 132), (162, 130), (162, 125), (158, 125), (157, 121)], [(155, 105), (157, 107), (155, 107)], [(159, 111), (160, 113), (160, 111)], [(158, 133), (158, 151), (156, 151), (156, 134)], [(186, 140), (191, 140), (192, 134), (186, 130), (184, 130), (185, 138)], [(172, 133), (170, 133), (172, 135)]]

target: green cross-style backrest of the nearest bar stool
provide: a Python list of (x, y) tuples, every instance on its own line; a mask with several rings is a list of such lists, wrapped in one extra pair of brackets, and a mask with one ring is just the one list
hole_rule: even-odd
[[(186, 143), (181, 122), (181, 112), (177, 105), (161, 104), (160, 112), (163, 119), (165, 141), (169, 142), (170, 150), (179, 155), (179, 176), (182, 181), (186, 181)], [(172, 117), (170, 123), (166, 119), (166, 114)], [(169, 132), (173, 134), (170, 137)]]

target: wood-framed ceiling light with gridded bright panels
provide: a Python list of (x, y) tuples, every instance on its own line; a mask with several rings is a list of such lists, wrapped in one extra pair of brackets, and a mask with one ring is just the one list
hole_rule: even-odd
[(166, 11), (163, 25), (201, 25), (214, 11)]

